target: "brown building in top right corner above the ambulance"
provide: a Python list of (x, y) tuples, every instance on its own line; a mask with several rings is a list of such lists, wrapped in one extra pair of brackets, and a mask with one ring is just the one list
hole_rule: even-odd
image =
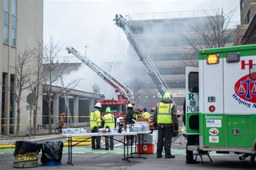
[(240, 0), (240, 22), (234, 34), (234, 45), (256, 43), (256, 0)]

